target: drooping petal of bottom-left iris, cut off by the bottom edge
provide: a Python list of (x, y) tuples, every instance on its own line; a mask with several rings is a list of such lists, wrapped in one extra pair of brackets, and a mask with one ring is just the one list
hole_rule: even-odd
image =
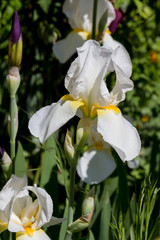
[(33, 231), (33, 233), (27, 234), (24, 232), (16, 233), (16, 240), (51, 240), (48, 235), (42, 230)]

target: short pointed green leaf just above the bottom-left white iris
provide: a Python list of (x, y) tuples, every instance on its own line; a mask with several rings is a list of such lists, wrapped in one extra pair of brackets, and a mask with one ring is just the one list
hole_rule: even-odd
[(26, 163), (24, 158), (24, 150), (21, 143), (18, 141), (18, 150), (15, 158), (15, 175), (23, 177), (26, 174)]

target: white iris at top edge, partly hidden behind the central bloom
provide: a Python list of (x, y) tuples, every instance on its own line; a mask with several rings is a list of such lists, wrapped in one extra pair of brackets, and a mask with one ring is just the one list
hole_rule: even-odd
[[(65, 63), (75, 52), (76, 48), (91, 38), (94, 0), (65, 0), (63, 12), (73, 29), (63, 40), (53, 46), (53, 52), (61, 63)], [(115, 10), (109, 0), (99, 0), (97, 6), (96, 33), (98, 23), (105, 12), (108, 12), (106, 28), (115, 19)], [(108, 35), (108, 31), (106, 34)]]

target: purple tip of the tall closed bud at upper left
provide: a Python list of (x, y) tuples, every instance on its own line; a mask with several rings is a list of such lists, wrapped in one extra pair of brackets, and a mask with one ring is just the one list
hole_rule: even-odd
[(10, 41), (14, 44), (17, 43), (21, 36), (21, 27), (19, 23), (18, 13), (14, 11), (13, 20), (12, 20), (12, 29), (10, 33)]

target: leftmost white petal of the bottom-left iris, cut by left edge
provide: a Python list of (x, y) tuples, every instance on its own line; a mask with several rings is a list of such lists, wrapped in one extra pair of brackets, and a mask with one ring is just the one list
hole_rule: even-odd
[(27, 186), (27, 178), (12, 175), (10, 180), (0, 191), (0, 233), (8, 228), (9, 214), (14, 196)]

